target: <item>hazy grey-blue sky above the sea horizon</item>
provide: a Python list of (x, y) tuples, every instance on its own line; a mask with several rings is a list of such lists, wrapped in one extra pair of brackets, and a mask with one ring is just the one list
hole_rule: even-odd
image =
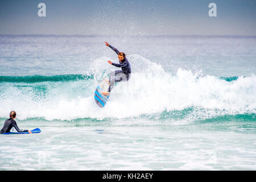
[[(46, 4), (46, 17), (38, 4)], [(217, 16), (210, 17), (209, 3)], [(1, 0), (0, 34), (256, 35), (255, 0)]]

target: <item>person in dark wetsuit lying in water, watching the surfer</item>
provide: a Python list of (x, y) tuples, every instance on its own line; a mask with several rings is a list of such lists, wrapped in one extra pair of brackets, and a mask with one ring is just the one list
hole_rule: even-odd
[(18, 132), (28, 132), (31, 133), (30, 130), (20, 130), (17, 126), (16, 121), (14, 120), (16, 118), (16, 112), (11, 111), (10, 112), (10, 118), (6, 119), (5, 124), (3, 125), (2, 130), (0, 131), (0, 134), (2, 133), (9, 133), (10, 130), (14, 127)]

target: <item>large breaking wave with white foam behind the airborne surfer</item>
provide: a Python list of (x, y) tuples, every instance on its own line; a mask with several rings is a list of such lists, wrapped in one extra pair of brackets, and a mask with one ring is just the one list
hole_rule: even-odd
[(200, 71), (181, 68), (172, 75), (140, 55), (130, 55), (130, 80), (115, 84), (108, 104), (101, 109), (94, 102), (94, 90), (115, 70), (100, 64), (105, 60), (94, 59), (84, 75), (0, 76), (0, 118), (15, 110), (22, 120), (151, 118), (194, 122), (227, 115), (255, 120), (255, 75), (203, 76)]

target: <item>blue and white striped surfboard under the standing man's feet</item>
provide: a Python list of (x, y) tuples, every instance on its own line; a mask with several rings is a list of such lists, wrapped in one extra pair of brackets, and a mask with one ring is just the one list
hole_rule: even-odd
[(94, 92), (94, 100), (99, 107), (104, 107), (109, 100), (109, 96), (105, 96), (102, 92), (108, 92), (109, 83), (105, 80), (97, 85), (97, 88)]

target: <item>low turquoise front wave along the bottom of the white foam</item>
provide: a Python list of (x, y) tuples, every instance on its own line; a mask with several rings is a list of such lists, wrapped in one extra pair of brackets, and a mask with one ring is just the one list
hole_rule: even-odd
[[(143, 125), (183, 125), (183, 124), (199, 124), (199, 123), (255, 123), (256, 121), (256, 113), (243, 113), (243, 114), (219, 114), (219, 115), (198, 115), (193, 113), (195, 111), (192, 108), (187, 108), (184, 110), (173, 110), (167, 111), (164, 110), (161, 113), (155, 114), (141, 114), (137, 117), (129, 117), (123, 119), (115, 119), (115, 118), (104, 118), (104, 119), (97, 119), (97, 118), (76, 118), (76, 119), (52, 119), (52, 122), (55, 122), (59, 125), (70, 125), (74, 123), (76, 126), (84, 126), (84, 125), (96, 125), (95, 122), (98, 122), (98, 125), (102, 125), (104, 123), (110, 123), (115, 121), (121, 121), (117, 123), (118, 125), (139, 125), (142, 123)], [(193, 119), (191, 119), (193, 117)], [(7, 117), (0, 118), (0, 120), (5, 121)], [(18, 118), (19, 119), (19, 118)], [(31, 117), (27, 119), (19, 119), (26, 122), (46, 122), (48, 123), (49, 120), (44, 117)], [(148, 122), (144, 122), (148, 121)], [(65, 122), (65, 123), (63, 123)], [(62, 124), (61, 124), (62, 123)], [(52, 123), (53, 124), (53, 123)], [(112, 123), (113, 124), (113, 123)], [(54, 125), (54, 124), (53, 124)]]

